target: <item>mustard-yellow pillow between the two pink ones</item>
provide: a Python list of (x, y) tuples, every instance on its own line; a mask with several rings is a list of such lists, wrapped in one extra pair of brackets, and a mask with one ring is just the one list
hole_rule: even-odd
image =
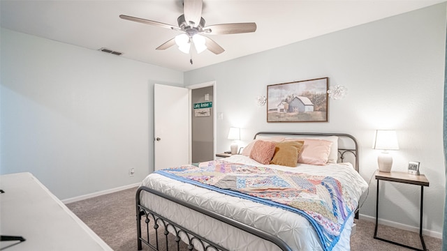
[(270, 164), (296, 167), (298, 155), (300, 155), (303, 141), (279, 142), (274, 149), (274, 155)]

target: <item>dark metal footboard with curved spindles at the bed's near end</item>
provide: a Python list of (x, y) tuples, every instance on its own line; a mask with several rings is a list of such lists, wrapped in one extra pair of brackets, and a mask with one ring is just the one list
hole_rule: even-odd
[[(169, 219), (164, 218), (163, 216), (159, 215), (158, 213), (155, 213), (149, 208), (143, 206), (140, 203), (140, 194), (141, 192), (149, 192), (154, 195), (157, 195), (159, 197), (163, 197), (164, 199), (168, 199), (170, 201), (173, 201), (177, 204), (181, 204), (182, 206), (186, 206), (187, 208), (191, 208), (194, 211), (198, 211), (199, 213), (203, 213), (204, 215), (210, 216), (216, 220), (220, 220), (221, 222), (224, 222), (228, 225), (231, 225), (233, 227), (237, 227), (238, 229), (241, 229), (243, 231), (247, 231), (250, 234), (253, 234), (254, 236), (258, 236), (259, 238), (263, 238), (266, 241), (270, 241), (277, 245), (281, 250), (291, 250), (291, 248), (280, 238), (277, 236), (273, 236), (272, 234), (269, 234), (265, 231), (256, 229), (254, 227), (251, 227), (249, 225), (245, 225), (241, 222), (237, 222), (236, 220), (233, 220), (231, 218), (228, 218), (223, 215), (219, 215), (218, 213), (214, 213), (212, 211), (209, 211), (204, 208), (200, 208), (199, 206), (190, 204), (187, 201), (181, 201), (175, 197), (170, 197), (169, 195), (165, 195), (157, 190), (153, 190), (152, 188), (147, 188), (144, 186), (141, 186), (138, 188), (136, 195), (135, 195), (135, 206), (136, 206), (136, 220), (137, 220), (137, 236), (138, 236), (138, 250), (142, 250), (142, 243), (145, 243), (149, 246), (149, 248), (152, 248), (152, 250), (169, 250), (168, 245), (168, 234), (170, 233), (168, 231), (168, 228), (170, 228), (173, 231), (173, 234), (175, 235), (175, 242), (176, 249), (180, 250), (180, 240), (181, 236), (184, 236), (184, 238), (187, 239), (186, 245), (188, 250), (193, 250), (194, 245), (200, 245), (201, 250), (227, 250), (226, 248), (221, 247), (220, 245), (217, 245), (216, 243), (213, 243), (212, 241), (207, 240), (206, 238), (203, 238), (202, 236), (193, 233), (192, 231), (189, 231), (188, 229), (185, 229), (182, 226), (179, 226), (175, 224), (175, 222), (170, 221)], [(142, 218), (145, 219), (145, 225), (146, 225), (146, 233), (147, 236), (145, 238), (142, 237)], [(154, 221), (154, 231), (155, 231), (155, 240), (151, 241), (149, 240), (149, 222), (153, 220)], [(166, 248), (161, 249), (161, 242), (159, 241), (159, 227), (163, 226), (164, 229), (161, 229), (160, 231), (163, 231), (163, 234), (165, 235), (165, 241), (166, 241)], [(171, 240), (172, 241), (172, 240)]]

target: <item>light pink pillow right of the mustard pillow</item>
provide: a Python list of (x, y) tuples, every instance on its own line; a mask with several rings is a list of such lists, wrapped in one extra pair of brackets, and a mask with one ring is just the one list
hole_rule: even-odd
[(326, 165), (332, 142), (324, 139), (305, 139), (298, 163), (309, 165)]

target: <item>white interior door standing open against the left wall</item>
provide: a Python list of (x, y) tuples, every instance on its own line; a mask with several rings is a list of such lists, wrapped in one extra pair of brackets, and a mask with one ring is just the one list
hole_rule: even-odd
[(189, 89), (154, 84), (154, 169), (189, 163)]

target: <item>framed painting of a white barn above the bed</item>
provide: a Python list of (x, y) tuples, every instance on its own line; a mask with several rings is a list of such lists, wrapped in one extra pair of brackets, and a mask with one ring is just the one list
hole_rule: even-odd
[(267, 86), (267, 122), (327, 122), (328, 77)]

